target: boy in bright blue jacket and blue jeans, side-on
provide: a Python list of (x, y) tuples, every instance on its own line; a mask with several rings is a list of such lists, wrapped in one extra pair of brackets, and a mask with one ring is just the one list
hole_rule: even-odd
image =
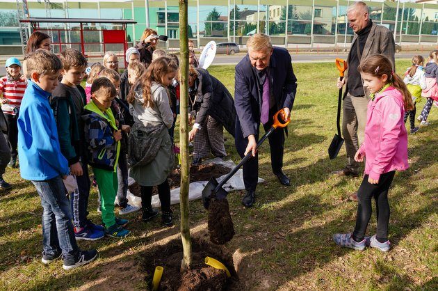
[(22, 178), (31, 180), (40, 195), (42, 212), (42, 262), (63, 255), (63, 269), (86, 265), (97, 251), (81, 251), (74, 238), (70, 202), (63, 178), (70, 173), (61, 154), (58, 131), (49, 97), (58, 85), (62, 64), (55, 54), (37, 49), (26, 60), (31, 79), (18, 117), (18, 154)]

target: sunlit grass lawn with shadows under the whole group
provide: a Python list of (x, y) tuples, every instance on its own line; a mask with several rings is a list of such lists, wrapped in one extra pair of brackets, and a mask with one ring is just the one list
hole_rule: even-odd
[[(409, 63), (398, 61), (398, 74)], [(428, 127), (409, 135), (410, 168), (396, 174), (390, 190), (391, 251), (341, 249), (332, 234), (354, 227), (356, 204), (346, 198), (362, 180), (330, 175), (346, 162), (344, 148), (334, 160), (327, 155), (336, 132), (338, 72), (334, 63), (298, 63), (293, 68), (298, 93), (284, 155), (291, 186), (282, 187), (271, 173), (266, 143), (259, 157), (259, 175), (266, 182), (257, 188), (257, 203), (245, 209), (243, 191), (229, 195), (236, 236), (224, 249), (238, 258), (236, 290), (437, 290), (438, 109), (432, 107)], [(209, 71), (234, 93), (233, 66)], [(417, 104), (417, 114), (423, 104)], [(231, 136), (226, 148), (238, 162)], [(139, 267), (143, 255), (178, 237), (176, 205), (173, 228), (161, 227), (160, 219), (142, 223), (137, 213), (128, 216), (130, 237), (79, 242), (81, 249), (101, 252), (87, 267), (65, 272), (61, 261), (42, 265), (40, 199), (33, 185), (19, 178), (18, 169), (8, 169), (3, 177), (14, 188), (0, 193), (0, 290), (144, 289), (145, 274)], [(96, 200), (92, 189), (90, 218), (100, 222)], [(190, 217), (192, 234), (205, 237), (206, 212), (200, 200), (190, 204)]]

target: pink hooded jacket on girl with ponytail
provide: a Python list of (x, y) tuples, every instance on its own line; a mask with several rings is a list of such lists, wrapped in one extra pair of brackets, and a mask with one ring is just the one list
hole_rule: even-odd
[(365, 174), (374, 180), (383, 173), (409, 168), (404, 113), (403, 95), (393, 86), (368, 103), (365, 139), (359, 152), (366, 157)]

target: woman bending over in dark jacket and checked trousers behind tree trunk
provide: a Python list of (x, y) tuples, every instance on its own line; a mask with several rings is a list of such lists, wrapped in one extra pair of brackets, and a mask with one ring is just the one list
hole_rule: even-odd
[(222, 127), (234, 136), (236, 109), (227, 88), (204, 69), (190, 65), (188, 86), (190, 123), (194, 123), (188, 139), (193, 141), (192, 164), (197, 166), (210, 152), (215, 157), (227, 155)]

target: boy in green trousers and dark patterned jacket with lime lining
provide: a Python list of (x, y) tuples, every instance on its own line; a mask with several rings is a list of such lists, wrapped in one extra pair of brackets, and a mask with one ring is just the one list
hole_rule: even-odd
[(110, 237), (126, 237), (124, 228), (127, 219), (114, 215), (114, 200), (117, 193), (117, 162), (122, 132), (117, 129), (111, 102), (117, 95), (115, 86), (105, 77), (97, 78), (91, 85), (91, 98), (84, 109), (85, 139), (88, 164), (95, 173), (102, 200), (102, 222), (105, 234)]

